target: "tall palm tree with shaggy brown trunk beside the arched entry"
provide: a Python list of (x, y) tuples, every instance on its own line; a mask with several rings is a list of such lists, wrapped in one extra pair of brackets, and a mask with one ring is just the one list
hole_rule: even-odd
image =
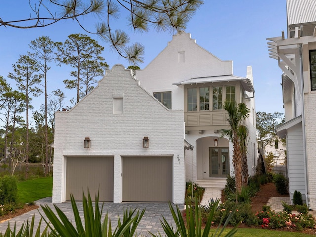
[[(233, 167), (235, 172), (236, 193), (241, 192), (242, 188), (242, 156), (243, 148), (240, 142), (240, 126), (243, 126), (245, 119), (249, 116), (250, 110), (244, 103), (232, 101), (225, 101), (223, 108), (228, 113), (227, 121), (229, 123), (229, 129), (222, 129), (221, 135), (229, 138), (233, 142)], [(237, 198), (236, 198), (237, 201)]]

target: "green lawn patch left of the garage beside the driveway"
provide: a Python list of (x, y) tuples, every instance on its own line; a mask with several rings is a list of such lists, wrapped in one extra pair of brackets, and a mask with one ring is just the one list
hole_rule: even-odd
[(18, 182), (18, 195), (20, 203), (29, 203), (45, 197), (52, 196), (53, 178), (37, 178)]

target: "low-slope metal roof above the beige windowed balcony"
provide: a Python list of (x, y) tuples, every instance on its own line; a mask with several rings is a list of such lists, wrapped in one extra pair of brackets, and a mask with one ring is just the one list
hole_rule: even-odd
[(223, 75), (223, 76), (209, 76), (209, 77), (199, 77), (191, 78), (189, 80), (184, 80), (174, 85), (187, 85), (187, 84), (201, 84), (210, 82), (229, 82), (229, 81), (240, 81), (243, 87), (248, 92), (255, 92), (251, 80), (249, 78), (242, 78), (234, 75)]

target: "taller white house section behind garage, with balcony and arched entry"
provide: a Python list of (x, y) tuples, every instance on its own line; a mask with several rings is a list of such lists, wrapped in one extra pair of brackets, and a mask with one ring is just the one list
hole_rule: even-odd
[(246, 103), (251, 111), (246, 121), (248, 168), (254, 174), (257, 142), (251, 66), (245, 73), (246, 77), (234, 76), (232, 61), (218, 59), (185, 33), (174, 35), (152, 62), (136, 71), (150, 94), (168, 108), (184, 111), (185, 140), (193, 146), (185, 152), (187, 181), (201, 185), (215, 181), (209, 185), (216, 185), (224, 180), (223, 186), (225, 177), (233, 175), (233, 145), (219, 134), (228, 128), (225, 100)]

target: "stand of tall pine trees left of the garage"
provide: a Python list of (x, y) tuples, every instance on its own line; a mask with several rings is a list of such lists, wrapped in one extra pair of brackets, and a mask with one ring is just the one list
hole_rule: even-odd
[[(1, 162), (8, 163), (12, 174), (19, 162), (25, 162), (26, 178), (30, 161), (43, 162), (45, 175), (50, 171), (55, 112), (62, 109), (66, 97), (60, 89), (48, 93), (52, 63), (74, 68), (70, 76), (75, 79), (63, 81), (65, 88), (77, 90), (77, 97), (71, 99), (72, 105), (86, 96), (108, 69), (100, 56), (104, 48), (84, 34), (71, 34), (65, 42), (53, 42), (47, 36), (40, 36), (31, 41), (29, 49), (13, 64), (8, 74), (10, 81), (0, 76)], [(11, 86), (14, 82), (16, 90)], [(41, 94), (44, 94), (44, 103), (33, 110), (32, 99)], [(34, 126), (30, 126), (31, 116)]]

